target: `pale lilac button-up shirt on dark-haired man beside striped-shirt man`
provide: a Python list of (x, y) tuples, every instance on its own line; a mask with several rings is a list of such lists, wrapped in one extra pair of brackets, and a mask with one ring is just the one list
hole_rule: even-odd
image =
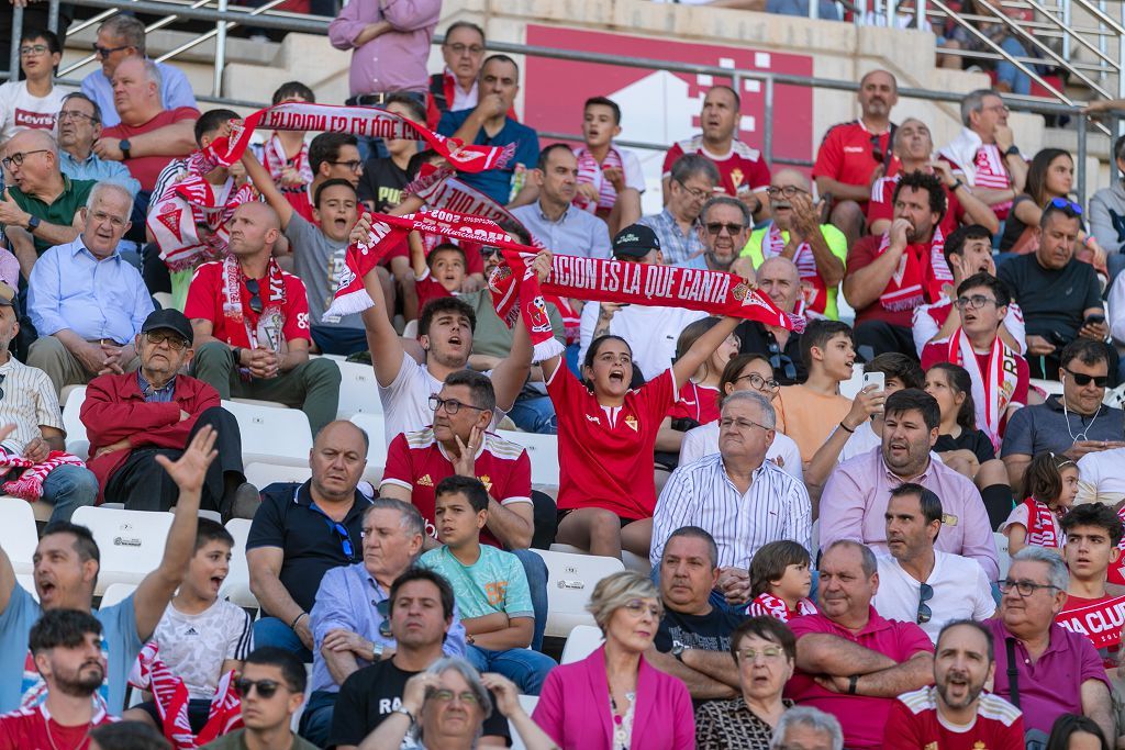
[[(861, 453), (832, 470), (820, 497), (820, 549), (840, 539), (863, 542), (886, 552), (886, 501), (904, 479), (883, 462), (883, 449)], [(976, 560), (988, 579), (1000, 575), (992, 525), (975, 485), (944, 463), (930, 459), (920, 477), (910, 481), (942, 499), (942, 532), (934, 549)]]

